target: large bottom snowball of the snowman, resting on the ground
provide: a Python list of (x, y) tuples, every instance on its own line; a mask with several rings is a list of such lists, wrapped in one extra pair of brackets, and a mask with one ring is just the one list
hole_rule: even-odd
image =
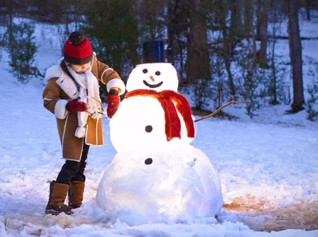
[(145, 221), (215, 217), (223, 205), (216, 170), (191, 145), (116, 154), (96, 202), (112, 216), (134, 213)]

